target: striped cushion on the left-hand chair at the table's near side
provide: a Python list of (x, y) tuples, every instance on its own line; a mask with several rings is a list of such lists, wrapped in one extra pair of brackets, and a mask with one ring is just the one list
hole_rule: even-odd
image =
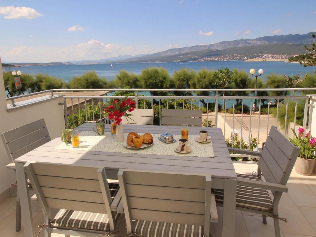
[[(119, 190), (119, 184), (109, 183), (109, 189), (112, 199)], [(114, 213), (115, 219), (119, 216)], [(107, 214), (73, 211), (60, 209), (57, 215), (52, 219), (51, 226), (56, 228), (80, 228), (100, 231), (110, 231), (110, 223)]]

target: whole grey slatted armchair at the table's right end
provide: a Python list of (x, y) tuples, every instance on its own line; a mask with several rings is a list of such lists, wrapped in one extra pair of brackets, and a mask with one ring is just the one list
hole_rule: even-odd
[[(229, 152), (260, 156), (257, 176), (237, 174), (236, 209), (273, 217), (276, 237), (280, 236), (278, 204), (300, 149), (294, 146), (276, 127), (272, 126), (261, 152), (228, 148)], [(266, 182), (263, 182), (261, 175)], [(267, 190), (271, 190), (273, 200)], [(215, 190), (216, 203), (223, 204), (223, 190)]]

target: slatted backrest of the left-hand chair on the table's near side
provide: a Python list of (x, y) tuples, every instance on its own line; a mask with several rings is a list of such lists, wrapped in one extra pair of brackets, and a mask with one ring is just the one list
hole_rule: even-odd
[(50, 208), (108, 214), (110, 228), (114, 229), (104, 167), (28, 162), (24, 168), (49, 219)]

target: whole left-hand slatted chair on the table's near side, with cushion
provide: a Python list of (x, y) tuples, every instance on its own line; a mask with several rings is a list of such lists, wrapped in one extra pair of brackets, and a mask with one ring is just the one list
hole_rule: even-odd
[[(44, 213), (45, 236), (100, 236), (114, 231), (119, 185), (107, 183), (104, 167), (26, 163), (25, 171)], [(51, 209), (58, 209), (51, 215)]]

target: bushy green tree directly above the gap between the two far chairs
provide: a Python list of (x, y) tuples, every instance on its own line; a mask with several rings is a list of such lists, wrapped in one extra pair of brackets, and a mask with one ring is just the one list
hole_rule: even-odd
[[(172, 88), (172, 81), (168, 71), (162, 67), (151, 67), (142, 70), (139, 76), (143, 88), (149, 89), (170, 89)], [(166, 96), (166, 91), (151, 91), (153, 96)]]

